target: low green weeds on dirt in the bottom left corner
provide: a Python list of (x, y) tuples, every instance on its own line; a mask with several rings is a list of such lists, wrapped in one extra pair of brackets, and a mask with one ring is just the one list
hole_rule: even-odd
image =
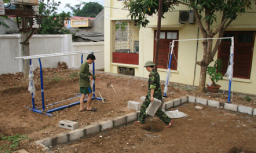
[(0, 146), (0, 152), (2, 152), (1, 150), (3, 150), (4, 152), (13, 152), (10, 150), (13, 150), (13, 149), (15, 150), (16, 147), (19, 145), (19, 142), (25, 139), (28, 139), (26, 135), (17, 134), (14, 136), (6, 136), (6, 137), (0, 135), (0, 141), (2, 140), (11, 141), (11, 145), (4, 144), (3, 146)]

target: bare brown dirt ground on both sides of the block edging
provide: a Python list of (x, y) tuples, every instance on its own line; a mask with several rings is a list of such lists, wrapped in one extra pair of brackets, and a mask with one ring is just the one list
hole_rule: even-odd
[[(34, 74), (35, 107), (40, 107), (39, 70), (35, 70)], [(79, 93), (78, 70), (44, 68), (43, 74), (45, 105), (76, 97), (75, 93)], [(16, 149), (39, 152), (40, 149), (32, 145), (34, 141), (69, 131), (58, 127), (60, 120), (76, 120), (79, 126), (99, 123), (135, 111), (127, 108), (127, 101), (139, 101), (141, 96), (147, 94), (145, 79), (104, 73), (96, 73), (96, 75), (101, 79), (95, 84), (96, 97), (100, 97), (100, 92), (102, 97), (106, 98), (105, 102), (110, 104), (102, 105), (99, 104), (101, 101), (93, 100), (92, 105), (97, 107), (96, 112), (79, 112), (79, 105), (76, 105), (53, 112), (53, 117), (34, 113), (26, 108), (32, 107), (32, 99), (31, 93), (27, 91), (28, 79), (23, 79), (21, 73), (0, 75), (0, 135), (26, 134), (29, 139), (21, 141)], [(111, 87), (107, 87), (109, 80), (117, 94)], [(191, 87), (191, 90), (188, 91), (184, 85), (174, 83), (170, 83), (170, 85), (171, 93), (168, 94), (166, 101), (184, 95), (203, 97), (222, 103), (227, 101), (227, 94), (201, 94), (197, 92), (196, 87)], [(252, 100), (246, 101), (243, 99), (245, 96), (244, 94), (233, 94), (233, 104), (255, 108), (256, 98), (249, 96)], [(80, 97), (65, 100), (57, 105), (46, 107), (46, 110), (79, 100)], [(84, 106), (86, 107), (86, 103)], [(203, 111), (198, 111), (194, 109), (194, 106), (193, 104), (180, 106), (178, 109), (190, 117), (174, 119), (173, 127), (170, 129), (165, 129), (164, 123), (157, 117), (148, 118), (146, 124), (117, 127), (68, 145), (54, 146), (52, 150), (58, 152), (58, 148), (60, 148), (64, 149), (60, 152), (256, 152), (254, 145), (256, 117), (211, 107), (205, 107)], [(155, 129), (150, 131), (152, 128)], [(102, 138), (99, 137), (100, 135)], [(10, 144), (10, 142), (2, 140), (0, 137), (0, 146), (4, 144)], [(3, 150), (0, 148), (1, 151)]]

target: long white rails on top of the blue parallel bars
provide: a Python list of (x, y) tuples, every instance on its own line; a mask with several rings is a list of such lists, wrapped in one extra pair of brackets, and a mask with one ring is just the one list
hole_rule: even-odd
[(78, 52), (67, 52), (67, 53), (53, 53), (53, 54), (42, 54), (42, 55), (33, 55), (33, 56), (22, 56), (14, 58), (17, 59), (23, 59), (23, 60), (29, 60), (29, 59), (41, 59), (41, 58), (49, 58), (49, 57), (56, 57), (56, 56), (68, 56), (68, 55), (77, 55), (77, 54), (86, 54), (86, 53), (97, 53), (97, 52), (103, 52), (102, 50), (96, 50), (89, 52), (88, 50), (78, 51)]

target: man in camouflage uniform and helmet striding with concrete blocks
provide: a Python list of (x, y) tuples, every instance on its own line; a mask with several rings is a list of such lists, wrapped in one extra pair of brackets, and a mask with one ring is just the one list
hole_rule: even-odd
[[(162, 92), (160, 86), (160, 75), (154, 69), (154, 62), (147, 61), (144, 67), (147, 69), (149, 73), (149, 80), (148, 80), (148, 94), (146, 95), (146, 99), (141, 106), (141, 111), (139, 112), (139, 120), (135, 123), (144, 123), (146, 117), (146, 110), (154, 100), (154, 98), (162, 100)], [(164, 123), (167, 124), (166, 127), (172, 126), (173, 120), (169, 118), (161, 109), (157, 110), (156, 116), (159, 117)]]

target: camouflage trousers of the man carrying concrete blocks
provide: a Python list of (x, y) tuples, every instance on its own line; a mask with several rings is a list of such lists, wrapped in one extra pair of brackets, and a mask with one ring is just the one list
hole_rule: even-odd
[[(144, 100), (142, 106), (141, 106), (141, 111), (139, 112), (139, 122), (145, 123), (146, 110), (147, 110), (150, 103), (151, 103), (150, 98), (147, 96), (146, 99)], [(159, 117), (167, 125), (172, 120), (161, 109), (157, 110), (156, 116)]]

